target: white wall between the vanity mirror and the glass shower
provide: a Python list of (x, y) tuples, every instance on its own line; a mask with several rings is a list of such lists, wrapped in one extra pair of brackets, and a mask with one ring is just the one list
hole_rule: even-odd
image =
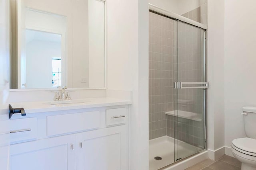
[(107, 0), (106, 3), (107, 87), (132, 90), (130, 169), (147, 170), (148, 0)]

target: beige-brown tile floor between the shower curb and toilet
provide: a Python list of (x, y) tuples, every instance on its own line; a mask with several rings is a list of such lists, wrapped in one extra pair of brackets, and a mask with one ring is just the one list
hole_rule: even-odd
[(194, 166), (190, 166), (186, 170), (240, 170), (241, 162), (236, 158), (224, 155), (220, 159), (214, 161), (210, 159), (203, 160)]

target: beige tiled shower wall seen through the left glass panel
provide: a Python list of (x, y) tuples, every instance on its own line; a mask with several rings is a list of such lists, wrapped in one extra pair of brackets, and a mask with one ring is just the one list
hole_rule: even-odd
[(149, 12), (149, 139), (166, 135), (173, 110), (174, 21)]

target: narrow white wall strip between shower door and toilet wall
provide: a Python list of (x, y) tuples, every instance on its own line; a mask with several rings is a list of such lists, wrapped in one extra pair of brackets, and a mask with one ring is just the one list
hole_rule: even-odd
[[(208, 148), (212, 151), (224, 147), (223, 73), (224, 1), (208, 0)], [(223, 149), (220, 152), (224, 154)]]

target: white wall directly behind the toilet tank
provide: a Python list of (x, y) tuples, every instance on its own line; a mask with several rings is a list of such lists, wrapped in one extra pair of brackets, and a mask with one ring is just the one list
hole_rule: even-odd
[[(256, 106), (256, 1), (225, 0), (225, 145), (245, 137), (244, 106)], [(254, 129), (255, 130), (255, 129)]]

